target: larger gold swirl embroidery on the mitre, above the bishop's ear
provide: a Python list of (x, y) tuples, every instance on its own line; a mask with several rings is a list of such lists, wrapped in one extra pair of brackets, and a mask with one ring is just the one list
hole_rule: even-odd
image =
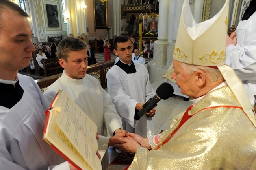
[(199, 58), (202, 63), (206, 63), (210, 61), (211, 63), (217, 64), (223, 60), (225, 61), (226, 51), (225, 49), (221, 51), (221, 53), (217, 53), (217, 51), (213, 51), (211, 54), (205, 54), (203, 57)]

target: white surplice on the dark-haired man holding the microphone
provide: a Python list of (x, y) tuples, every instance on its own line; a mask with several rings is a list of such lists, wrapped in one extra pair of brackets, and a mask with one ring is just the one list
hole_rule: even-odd
[(144, 103), (155, 93), (149, 81), (148, 71), (142, 64), (134, 63), (136, 73), (127, 74), (115, 65), (107, 72), (108, 93), (117, 112), (122, 118), (123, 127), (128, 132), (147, 137), (147, 119), (143, 115), (139, 121), (134, 119), (137, 103)]

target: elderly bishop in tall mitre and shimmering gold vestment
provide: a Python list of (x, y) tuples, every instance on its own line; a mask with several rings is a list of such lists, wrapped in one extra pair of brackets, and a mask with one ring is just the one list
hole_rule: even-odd
[(197, 24), (184, 1), (171, 78), (193, 104), (154, 138), (130, 133), (122, 138), (126, 143), (113, 146), (136, 152), (129, 170), (256, 169), (255, 112), (236, 73), (224, 64), (228, 6), (226, 0), (213, 18)]

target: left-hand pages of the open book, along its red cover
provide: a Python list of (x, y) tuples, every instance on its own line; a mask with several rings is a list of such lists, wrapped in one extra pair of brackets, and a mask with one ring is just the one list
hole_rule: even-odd
[[(74, 147), (72, 142), (70, 142), (69, 139), (65, 136), (65, 134), (61, 131), (59, 126), (55, 123), (55, 120), (58, 117), (58, 112), (56, 112), (55, 110), (51, 110), (49, 115), (49, 123), (47, 125), (48, 127), (44, 135), (44, 138), (47, 140), (46, 142), (50, 142), (53, 146), (55, 146), (60, 152), (66, 155), (81, 169), (102, 170), (100, 160), (97, 156), (87, 157), (86, 159), (84, 159), (83, 156)], [(87, 155), (96, 155), (95, 151), (91, 149), (88, 143), (85, 143), (85, 145), (85, 148), (89, 148), (87, 150)]]

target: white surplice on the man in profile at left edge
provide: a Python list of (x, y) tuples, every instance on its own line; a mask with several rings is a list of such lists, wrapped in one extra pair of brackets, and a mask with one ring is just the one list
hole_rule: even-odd
[[(0, 106), (0, 169), (47, 170), (65, 161), (43, 141), (50, 102), (31, 77), (18, 74), (18, 79), (22, 99), (11, 109)], [(69, 169), (67, 163), (65, 167), (56, 168)]]

